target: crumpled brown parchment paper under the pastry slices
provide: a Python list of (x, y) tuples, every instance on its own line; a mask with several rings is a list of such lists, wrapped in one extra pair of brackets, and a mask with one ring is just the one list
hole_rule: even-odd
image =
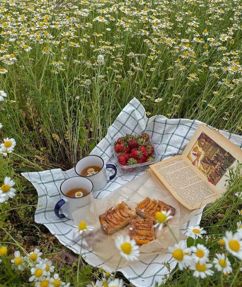
[[(124, 201), (132, 209), (135, 210), (137, 203), (142, 201), (145, 197), (162, 200), (166, 204), (174, 207), (175, 214), (173, 218), (168, 222), (169, 227), (178, 241), (186, 238), (180, 229), (189, 219), (192, 218), (196, 210), (190, 211), (182, 204), (180, 204), (177, 199), (171, 195), (165, 185), (157, 178), (157, 176), (150, 170), (147, 170), (145, 174), (117, 188), (111, 195), (107, 196), (106, 198), (102, 200), (93, 200), (90, 212), (86, 219), (90, 225), (95, 227), (96, 232), (93, 236), (87, 236), (86, 242), (90, 247), (92, 247), (92, 250), (107, 266), (114, 267), (118, 265), (120, 254), (119, 250), (115, 246), (115, 238), (120, 234), (128, 235), (129, 225), (118, 232), (108, 235), (100, 226), (99, 214), (104, 213), (111, 207), (115, 207), (120, 201)], [(82, 217), (80, 212), (74, 212), (73, 217), (74, 222), (78, 226)], [(163, 227), (161, 231), (156, 228), (156, 240), (139, 247), (139, 260), (150, 256), (150, 253), (166, 253), (167, 248), (169, 246), (173, 246), (176, 243), (172, 233), (167, 227)], [(122, 259), (121, 266), (126, 266), (127, 264), (128, 261)]]

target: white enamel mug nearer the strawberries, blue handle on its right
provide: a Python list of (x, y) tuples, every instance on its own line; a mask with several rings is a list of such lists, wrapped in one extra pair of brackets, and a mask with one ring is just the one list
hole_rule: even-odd
[[(94, 175), (82, 176), (81, 172), (89, 166), (99, 166), (101, 170)], [(114, 174), (110, 176), (109, 179), (107, 179), (106, 169), (114, 170)], [(104, 166), (103, 159), (98, 155), (87, 155), (77, 162), (75, 172), (81, 177), (90, 179), (93, 183), (93, 191), (96, 192), (97, 190), (103, 189), (108, 180), (115, 178), (117, 174), (117, 168), (114, 164), (111, 163), (108, 163)]]

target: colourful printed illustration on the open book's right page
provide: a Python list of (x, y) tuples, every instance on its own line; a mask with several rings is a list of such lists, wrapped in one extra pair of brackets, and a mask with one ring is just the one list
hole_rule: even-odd
[(218, 183), (236, 160), (204, 132), (197, 137), (187, 158), (213, 185)]

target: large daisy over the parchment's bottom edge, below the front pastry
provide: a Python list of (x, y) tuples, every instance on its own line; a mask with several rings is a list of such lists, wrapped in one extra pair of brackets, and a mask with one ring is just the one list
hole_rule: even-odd
[(127, 260), (134, 261), (140, 254), (135, 240), (130, 240), (129, 236), (118, 236), (115, 240), (115, 245), (120, 250), (121, 256)]

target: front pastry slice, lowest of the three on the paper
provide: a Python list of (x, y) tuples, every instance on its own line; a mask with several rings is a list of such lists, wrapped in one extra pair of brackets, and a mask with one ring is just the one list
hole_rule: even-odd
[(147, 244), (155, 240), (153, 220), (149, 219), (131, 219), (129, 225), (129, 236), (134, 239), (138, 245)]

